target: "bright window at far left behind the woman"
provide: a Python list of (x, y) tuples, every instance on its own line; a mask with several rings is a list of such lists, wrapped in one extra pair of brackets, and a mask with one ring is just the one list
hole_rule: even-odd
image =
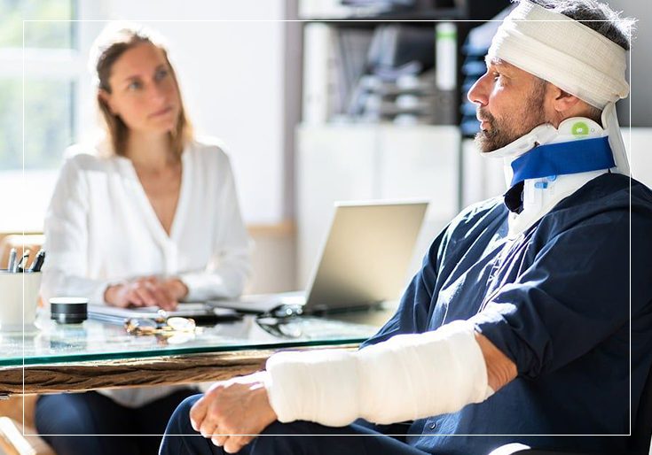
[(1, 209), (16, 213), (0, 217), (0, 232), (43, 228), (63, 150), (74, 142), (77, 1), (0, 0), (0, 192), (14, 196)]

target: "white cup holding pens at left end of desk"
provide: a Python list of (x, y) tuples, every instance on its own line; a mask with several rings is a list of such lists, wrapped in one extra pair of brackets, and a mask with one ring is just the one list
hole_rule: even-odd
[(35, 330), (41, 275), (41, 272), (12, 274), (0, 271), (0, 332)]

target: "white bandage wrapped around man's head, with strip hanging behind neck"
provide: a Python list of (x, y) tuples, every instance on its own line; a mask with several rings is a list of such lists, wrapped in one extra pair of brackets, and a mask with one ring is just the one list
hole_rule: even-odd
[(488, 58), (504, 60), (601, 109), (617, 171), (629, 174), (615, 109), (629, 93), (623, 48), (568, 16), (522, 0), (493, 37)]

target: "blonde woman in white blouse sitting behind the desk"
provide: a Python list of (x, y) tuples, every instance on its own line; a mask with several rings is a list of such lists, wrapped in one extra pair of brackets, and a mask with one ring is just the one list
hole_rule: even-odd
[[(112, 25), (91, 63), (106, 140), (68, 150), (45, 220), (43, 297), (158, 305), (237, 297), (249, 270), (229, 158), (193, 137), (161, 40)], [(41, 397), (43, 435), (161, 435), (192, 389)], [(45, 436), (58, 453), (156, 453), (160, 437)]]

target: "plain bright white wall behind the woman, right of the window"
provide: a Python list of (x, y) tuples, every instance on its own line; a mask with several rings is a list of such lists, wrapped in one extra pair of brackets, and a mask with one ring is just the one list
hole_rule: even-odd
[[(185, 103), (199, 134), (224, 140), (247, 223), (285, 218), (286, 71), (283, 0), (81, 0), (84, 19), (134, 20), (169, 41)], [(183, 5), (183, 7), (181, 7)], [(82, 24), (83, 45), (103, 22)], [(88, 87), (88, 86), (87, 86)], [(83, 92), (82, 92), (83, 90)], [(80, 128), (95, 120), (82, 88)]]

